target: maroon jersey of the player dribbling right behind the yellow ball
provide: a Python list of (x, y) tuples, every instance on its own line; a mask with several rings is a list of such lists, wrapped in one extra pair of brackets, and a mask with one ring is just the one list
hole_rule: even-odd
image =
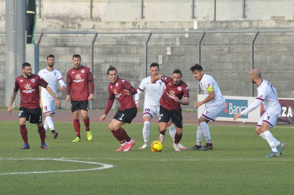
[(168, 76), (162, 76), (161, 81), (165, 83), (166, 89), (164, 90), (161, 98), (160, 105), (168, 110), (178, 110), (181, 107), (181, 104), (173, 100), (174, 97), (178, 97), (180, 100), (184, 97), (189, 97), (189, 87), (184, 82), (181, 81), (179, 85), (173, 84), (173, 78)]

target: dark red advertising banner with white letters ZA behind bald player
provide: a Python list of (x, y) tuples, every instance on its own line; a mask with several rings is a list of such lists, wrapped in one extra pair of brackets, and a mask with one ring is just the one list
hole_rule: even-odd
[[(281, 100), (279, 99), (282, 111), (280, 116), (277, 119), (276, 124), (283, 125), (294, 125), (294, 100)], [(260, 116), (264, 113), (263, 103), (260, 105)]]

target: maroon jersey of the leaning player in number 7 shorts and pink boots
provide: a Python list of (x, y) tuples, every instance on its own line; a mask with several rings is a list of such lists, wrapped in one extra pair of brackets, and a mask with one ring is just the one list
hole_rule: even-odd
[(109, 83), (109, 99), (114, 99), (114, 97), (117, 98), (121, 104), (119, 110), (125, 110), (136, 106), (133, 100), (133, 95), (125, 95), (125, 92), (123, 91), (125, 89), (130, 91), (131, 88), (133, 88), (133, 86), (128, 81), (121, 78), (117, 78), (115, 83)]

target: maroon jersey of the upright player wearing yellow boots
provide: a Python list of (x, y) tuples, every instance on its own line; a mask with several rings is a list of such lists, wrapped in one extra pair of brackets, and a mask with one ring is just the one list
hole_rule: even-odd
[(66, 84), (71, 85), (71, 99), (76, 101), (88, 100), (90, 95), (89, 82), (91, 81), (94, 81), (94, 79), (88, 67), (81, 65), (78, 69), (75, 67), (70, 69), (66, 75)]

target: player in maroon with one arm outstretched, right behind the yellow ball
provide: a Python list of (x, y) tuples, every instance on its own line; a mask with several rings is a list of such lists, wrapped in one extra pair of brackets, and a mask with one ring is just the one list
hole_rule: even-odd
[[(161, 79), (166, 85), (161, 98), (160, 98), (160, 108), (159, 108), (159, 133), (160, 141), (163, 142), (163, 138), (166, 132), (167, 123), (173, 122), (176, 128), (175, 140), (173, 147), (177, 152), (181, 152), (179, 148), (179, 142), (181, 141), (183, 135), (183, 116), (182, 116), (182, 105), (189, 105), (189, 87), (182, 81), (182, 72), (179, 69), (173, 71), (173, 77), (163, 76), (161, 74), (157, 75), (151, 80), (151, 83), (155, 83)], [(184, 97), (184, 100), (182, 98)]]

